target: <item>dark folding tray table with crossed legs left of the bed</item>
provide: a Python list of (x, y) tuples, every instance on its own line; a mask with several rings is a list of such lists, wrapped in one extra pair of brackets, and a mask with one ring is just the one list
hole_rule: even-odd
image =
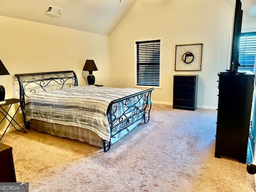
[[(3, 138), (4, 134), (5, 134), (5, 132), (6, 132), (7, 129), (9, 128), (10, 124), (12, 124), (12, 126), (13, 126), (17, 131), (21, 131), (21, 132), (27, 133), (27, 132), (20, 126), (20, 124), (18, 124), (18, 123), (16, 122), (16, 120), (14, 120), (14, 117), (15, 117), (15, 115), (17, 114), (17, 112), (18, 112), (18, 110), (19, 110), (19, 108), (20, 108), (20, 105), (19, 105), (19, 107), (17, 108), (17, 110), (16, 110), (16, 112), (15, 112), (15, 114), (14, 114), (13, 117), (8, 114), (8, 112), (10, 111), (10, 108), (11, 108), (12, 104), (21, 103), (21, 102), (23, 102), (23, 101), (24, 101), (24, 100), (22, 100), (22, 99), (15, 99), (15, 98), (6, 99), (6, 103), (0, 105), (0, 108), (2, 109), (2, 110), (0, 110), (0, 113), (2, 113), (3, 116), (4, 116), (4, 117), (2, 118), (0, 124), (3, 122), (4, 119), (7, 119), (7, 120), (9, 121), (8, 126), (6, 127), (4, 133), (2, 134), (2, 136), (1, 136), (1, 138), (0, 138), (0, 141), (2, 140), (2, 138)], [(5, 109), (3, 108), (3, 106), (9, 106), (8, 110), (5, 110)], [(18, 130), (18, 129), (14, 126), (14, 124), (12, 123), (13, 121), (21, 128), (21, 130)]]

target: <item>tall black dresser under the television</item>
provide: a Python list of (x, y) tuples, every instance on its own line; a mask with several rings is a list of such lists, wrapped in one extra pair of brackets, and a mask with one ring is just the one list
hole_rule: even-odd
[(215, 157), (246, 163), (254, 74), (219, 72)]

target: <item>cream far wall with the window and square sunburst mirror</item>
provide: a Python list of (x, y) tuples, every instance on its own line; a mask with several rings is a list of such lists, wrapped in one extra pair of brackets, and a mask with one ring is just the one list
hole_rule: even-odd
[[(227, 68), (233, 10), (226, 0), (138, 0), (110, 35), (112, 86), (134, 87), (134, 40), (162, 37), (162, 88), (152, 100), (172, 104), (173, 75), (199, 74), (198, 107), (216, 109), (217, 72)], [(256, 28), (256, 18), (244, 20), (247, 29)], [(194, 43), (203, 43), (202, 70), (174, 71), (175, 46)]]

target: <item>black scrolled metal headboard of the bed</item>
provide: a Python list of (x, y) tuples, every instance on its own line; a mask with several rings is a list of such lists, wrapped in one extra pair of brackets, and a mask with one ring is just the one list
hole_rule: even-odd
[(54, 71), (39, 73), (14, 74), (18, 78), (20, 87), (20, 99), (23, 102), (20, 108), (24, 117), (24, 124), (29, 129), (29, 122), (25, 120), (26, 98), (36, 92), (48, 90), (60, 90), (72, 86), (78, 86), (78, 80), (74, 71)]

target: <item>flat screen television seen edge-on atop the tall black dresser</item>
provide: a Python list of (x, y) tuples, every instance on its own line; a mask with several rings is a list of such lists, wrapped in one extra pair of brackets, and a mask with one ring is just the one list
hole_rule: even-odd
[(237, 72), (240, 66), (239, 59), (239, 46), (240, 46), (240, 35), (242, 28), (242, 3), (240, 0), (235, 0), (234, 4), (234, 18), (233, 18), (233, 31), (232, 31), (232, 45), (231, 45), (231, 58), (230, 68), (228, 71)]

